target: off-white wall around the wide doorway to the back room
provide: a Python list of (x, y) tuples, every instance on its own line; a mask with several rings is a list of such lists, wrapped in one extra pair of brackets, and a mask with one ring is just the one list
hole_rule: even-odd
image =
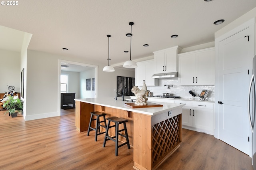
[[(26, 121), (60, 115), (59, 59), (95, 65), (88, 63), (86, 57), (68, 57), (28, 50), (26, 117), (24, 118)], [(98, 97), (113, 96), (114, 99), (116, 76), (134, 77), (135, 71), (116, 69), (115, 72), (104, 72), (102, 71), (104, 66), (98, 65)]]

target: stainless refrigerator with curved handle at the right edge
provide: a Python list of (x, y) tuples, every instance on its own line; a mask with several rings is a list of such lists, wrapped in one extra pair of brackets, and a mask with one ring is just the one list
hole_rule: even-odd
[(252, 165), (253, 169), (256, 170), (256, 56), (253, 58), (253, 69), (252, 78), (249, 87), (249, 97), (248, 97), (248, 114), (250, 127), (252, 129)]

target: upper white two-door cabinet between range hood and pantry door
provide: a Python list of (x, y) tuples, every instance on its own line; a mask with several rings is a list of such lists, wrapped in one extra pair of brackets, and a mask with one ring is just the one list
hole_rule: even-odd
[(178, 54), (180, 85), (214, 85), (214, 47)]

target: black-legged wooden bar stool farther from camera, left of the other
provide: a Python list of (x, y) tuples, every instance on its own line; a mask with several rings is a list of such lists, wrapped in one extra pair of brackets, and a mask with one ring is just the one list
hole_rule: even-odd
[[(103, 127), (106, 129), (107, 123), (106, 123), (106, 113), (101, 113), (101, 112), (90, 112), (91, 114), (91, 118), (90, 118), (90, 123), (89, 123), (89, 127), (88, 127), (88, 132), (87, 132), (87, 136), (89, 136), (89, 133), (91, 130), (95, 130), (95, 141), (97, 141), (97, 136), (100, 134), (103, 134), (105, 132), (100, 132), (100, 127)], [(96, 117), (96, 119), (92, 119), (93, 116)], [(100, 121), (100, 117), (103, 117), (103, 121)], [(96, 128), (91, 127), (92, 121), (96, 120)], [(104, 125), (100, 125), (100, 123), (104, 123)]]

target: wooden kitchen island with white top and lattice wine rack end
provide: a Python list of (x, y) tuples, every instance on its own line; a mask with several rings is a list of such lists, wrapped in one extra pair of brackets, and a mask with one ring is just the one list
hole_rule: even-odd
[[(116, 116), (127, 119), (130, 145), (133, 147), (134, 169), (153, 170), (158, 168), (182, 141), (181, 104), (161, 103), (162, 107), (130, 108), (130, 103), (112, 98), (75, 99), (76, 130), (88, 130), (90, 112), (100, 111), (106, 117)], [(109, 132), (114, 136), (113, 131)], [(124, 138), (120, 140), (125, 141)]]

